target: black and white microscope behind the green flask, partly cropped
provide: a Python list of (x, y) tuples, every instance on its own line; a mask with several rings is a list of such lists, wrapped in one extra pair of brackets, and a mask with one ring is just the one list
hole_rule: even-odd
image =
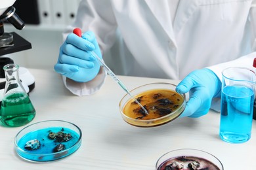
[[(16, 0), (1, 0), (0, 3), (0, 90), (5, 88), (5, 71), (3, 66), (8, 63), (14, 63), (11, 58), (3, 57), (5, 54), (20, 52), (32, 48), (32, 44), (26, 39), (20, 37), (15, 32), (6, 33), (4, 24), (12, 24), (16, 29), (23, 29), (25, 24), (20, 17), (15, 13), (13, 7)], [(26, 92), (30, 92), (35, 87), (35, 78), (31, 75), (28, 69), (20, 67), (19, 76)], [(1, 95), (1, 94), (0, 94)], [(1, 101), (1, 97), (0, 97)]]

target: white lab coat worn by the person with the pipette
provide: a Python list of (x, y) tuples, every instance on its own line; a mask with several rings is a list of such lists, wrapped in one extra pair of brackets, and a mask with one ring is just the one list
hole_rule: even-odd
[[(82, 0), (66, 33), (74, 27), (95, 32), (103, 55), (118, 39), (114, 55), (123, 59), (125, 75), (181, 80), (195, 69), (209, 67), (221, 78), (224, 67), (251, 67), (256, 57), (255, 4), (181, 0), (172, 21), (167, 0)], [(91, 82), (64, 82), (76, 95), (90, 95), (105, 76), (101, 71)]]

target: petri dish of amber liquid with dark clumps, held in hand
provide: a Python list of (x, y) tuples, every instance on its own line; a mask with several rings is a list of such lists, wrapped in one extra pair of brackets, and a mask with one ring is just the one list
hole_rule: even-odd
[(137, 127), (161, 126), (175, 120), (186, 106), (186, 96), (175, 92), (175, 88), (175, 84), (156, 82), (131, 90), (148, 114), (126, 94), (119, 102), (123, 120)]

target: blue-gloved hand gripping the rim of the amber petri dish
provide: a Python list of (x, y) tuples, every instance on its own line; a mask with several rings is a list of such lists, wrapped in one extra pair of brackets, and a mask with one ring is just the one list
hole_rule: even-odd
[(181, 117), (197, 118), (207, 114), (213, 97), (221, 95), (221, 81), (210, 69), (192, 71), (177, 86), (178, 93), (190, 94)]

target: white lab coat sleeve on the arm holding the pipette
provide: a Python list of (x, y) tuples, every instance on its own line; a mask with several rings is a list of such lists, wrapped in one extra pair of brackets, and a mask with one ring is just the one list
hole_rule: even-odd
[[(93, 31), (100, 46), (102, 56), (111, 48), (116, 40), (116, 19), (112, 13), (111, 1), (105, 0), (82, 0), (77, 10), (77, 17), (72, 25), (68, 25), (63, 33), (66, 39), (75, 27), (81, 28), (82, 32)], [(75, 82), (66, 76), (62, 76), (64, 85), (75, 95), (91, 95), (96, 93), (104, 84), (106, 71), (100, 69), (98, 75), (90, 82)]]

